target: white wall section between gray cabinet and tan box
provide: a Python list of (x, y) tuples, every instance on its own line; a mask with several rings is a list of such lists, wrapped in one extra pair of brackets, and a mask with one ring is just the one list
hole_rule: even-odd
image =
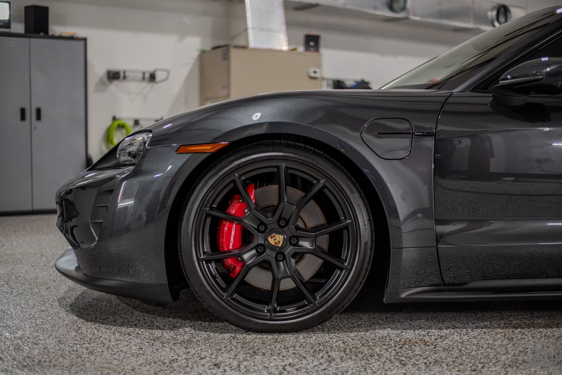
[[(229, 39), (221, 2), (12, 0), (12, 31), (24, 31), (29, 4), (49, 7), (51, 33), (76, 31), (88, 38), (88, 150), (94, 160), (107, 150), (103, 136), (113, 115), (169, 117), (197, 107), (198, 50)], [(105, 79), (107, 68), (157, 67), (171, 70), (169, 81), (110, 84)]]

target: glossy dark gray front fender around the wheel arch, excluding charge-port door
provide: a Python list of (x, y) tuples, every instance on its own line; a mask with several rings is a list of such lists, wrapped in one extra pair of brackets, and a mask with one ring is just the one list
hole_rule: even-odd
[[(157, 122), (151, 147), (293, 134), (345, 154), (365, 172), (388, 216), (392, 248), (435, 246), (433, 139), (415, 136), (410, 156), (378, 157), (362, 140), (370, 120), (396, 113), (414, 132), (433, 132), (450, 92), (434, 90), (337, 90), (261, 94), (228, 100)], [(253, 120), (258, 116), (257, 120)], [(392, 186), (401, 186), (393, 189)]]

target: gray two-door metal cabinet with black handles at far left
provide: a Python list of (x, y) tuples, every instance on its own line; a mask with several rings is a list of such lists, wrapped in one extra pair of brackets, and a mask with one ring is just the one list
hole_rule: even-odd
[(0, 34), (0, 212), (54, 210), (86, 167), (85, 48)]

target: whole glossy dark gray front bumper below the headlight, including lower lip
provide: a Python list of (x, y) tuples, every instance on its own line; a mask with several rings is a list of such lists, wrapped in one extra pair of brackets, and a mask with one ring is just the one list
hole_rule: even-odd
[[(175, 208), (182, 207), (184, 199), (180, 194), (175, 202), (176, 195), (207, 155), (176, 154), (176, 148), (149, 147), (135, 166), (84, 171), (61, 186), (57, 227), (72, 246), (74, 268), (80, 272), (76, 277), (57, 266), (59, 271), (92, 289), (111, 286), (113, 291), (103, 291), (112, 294), (146, 301), (177, 298), (185, 278), (174, 233), (166, 249), (166, 228), (174, 218), (170, 228), (176, 230)], [(167, 295), (152, 298), (150, 291), (162, 285)], [(137, 286), (146, 295), (139, 295)]]

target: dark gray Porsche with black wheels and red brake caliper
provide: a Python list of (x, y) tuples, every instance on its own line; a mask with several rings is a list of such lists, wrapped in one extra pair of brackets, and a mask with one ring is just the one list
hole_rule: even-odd
[(149, 303), (191, 287), (269, 332), (322, 323), (377, 278), (386, 302), (560, 298), (560, 13), (380, 90), (256, 95), (135, 132), (58, 190), (56, 268)]

